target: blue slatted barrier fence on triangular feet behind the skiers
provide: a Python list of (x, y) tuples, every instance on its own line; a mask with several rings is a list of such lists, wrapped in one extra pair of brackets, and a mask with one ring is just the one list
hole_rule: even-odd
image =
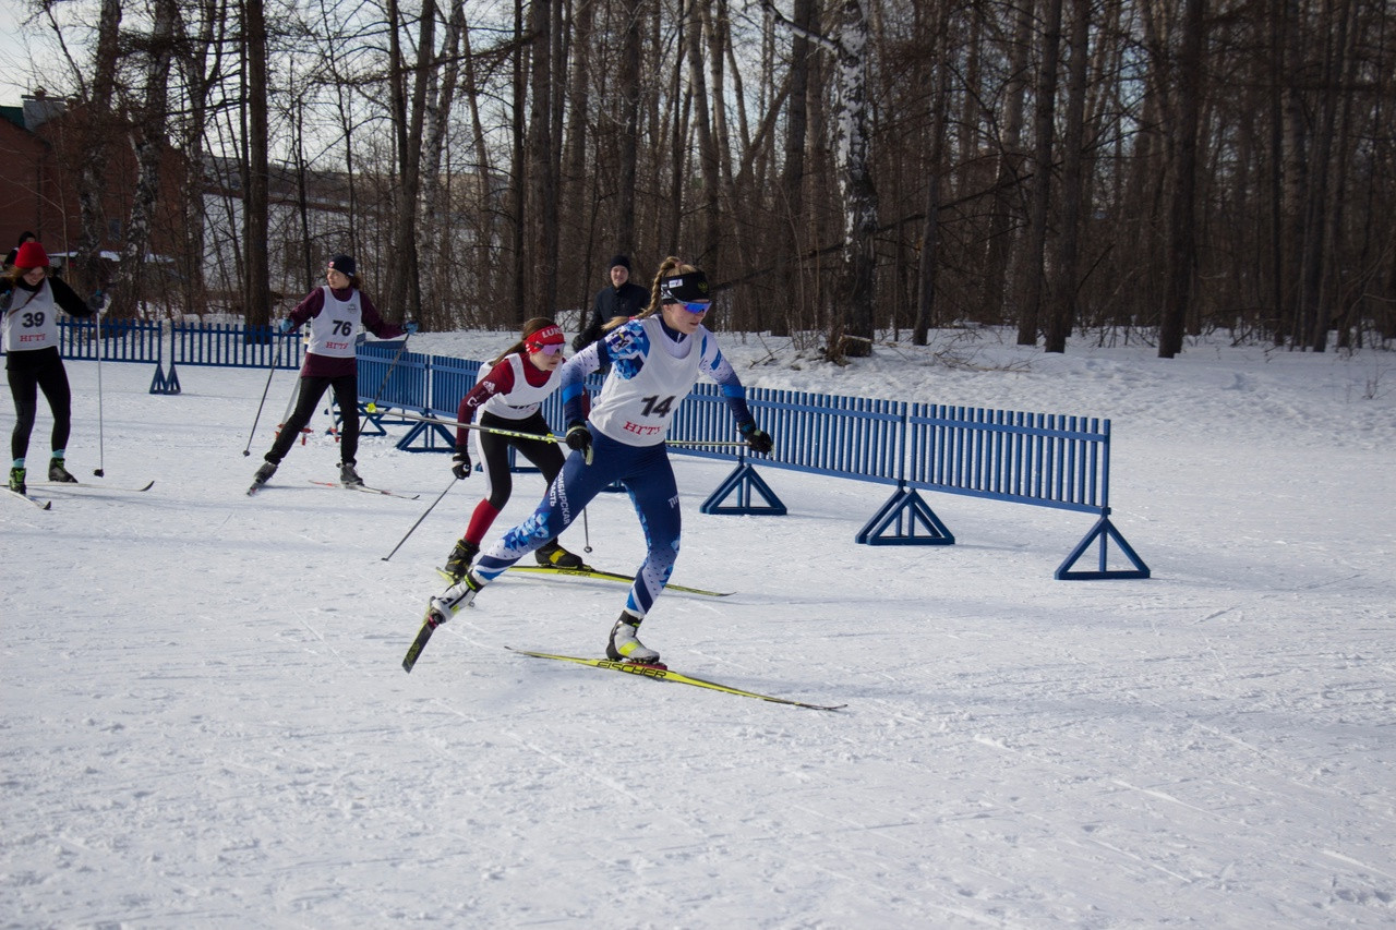
[[(96, 359), (95, 323), (64, 320), (61, 350), (73, 359)], [(170, 377), (163, 378), (163, 334), (158, 323), (105, 321), (103, 359), (155, 362), (152, 392), (177, 392), (174, 364), (299, 367), (303, 345), (297, 334), (242, 325), (169, 327)], [(391, 408), (454, 420), (461, 398), (475, 385), (477, 360), (429, 356), (406, 350), (406, 339), (359, 346), (360, 405), (381, 429)], [(173, 390), (170, 390), (173, 383)], [(162, 385), (165, 390), (158, 391)], [(592, 376), (595, 395), (602, 378)], [(727, 459), (737, 469), (702, 504), (708, 514), (783, 514), (785, 504), (757, 473), (755, 464), (832, 478), (895, 485), (896, 492), (857, 533), (867, 545), (949, 545), (955, 536), (926, 504), (919, 490), (965, 494), (1097, 514), (1096, 525), (1057, 568), (1061, 580), (1148, 578), (1139, 559), (1110, 521), (1110, 420), (1025, 413), (984, 408), (910, 404), (870, 398), (750, 388), (747, 404), (775, 438), (771, 455), (748, 461), (719, 388), (698, 384), (674, 415), (670, 451)], [(561, 398), (543, 405), (556, 430), (563, 427)], [(445, 451), (454, 429), (408, 419), (398, 448)], [(381, 433), (385, 434), (385, 433)], [(705, 444), (704, 441), (712, 444)], [(762, 497), (764, 504), (754, 503)], [(733, 505), (729, 501), (736, 500)], [(1108, 545), (1132, 566), (1111, 567)], [(1094, 568), (1076, 568), (1090, 550)]]

